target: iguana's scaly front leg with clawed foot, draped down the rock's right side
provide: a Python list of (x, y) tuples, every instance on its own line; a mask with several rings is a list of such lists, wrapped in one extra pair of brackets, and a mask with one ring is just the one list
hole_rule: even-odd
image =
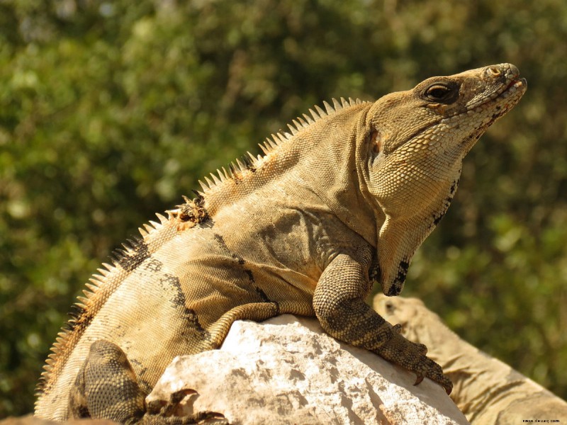
[(313, 295), (313, 308), (321, 326), (341, 341), (366, 348), (417, 375), (442, 385), (449, 394), (453, 385), (441, 366), (425, 356), (427, 348), (400, 335), (366, 304), (371, 290), (368, 271), (371, 255), (357, 261), (349, 254), (339, 254), (323, 271)]

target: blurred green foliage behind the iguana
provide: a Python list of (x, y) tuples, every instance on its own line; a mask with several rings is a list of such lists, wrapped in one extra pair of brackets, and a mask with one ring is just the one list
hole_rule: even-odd
[(527, 94), (403, 295), (567, 397), (566, 40), (564, 0), (0, 1), (0, 417), (32, 411), (91, 273), (202, 176), (315, 103), (500, 62)]

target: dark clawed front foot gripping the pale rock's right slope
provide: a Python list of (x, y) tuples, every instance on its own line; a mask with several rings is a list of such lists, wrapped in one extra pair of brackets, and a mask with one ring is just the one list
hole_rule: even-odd
[(425, 356), (427, 347), (405, 339), (400, 334), (402, 331), (400, 324), (396, 324), (392, 331), (392, 338), (378, 348), (378, 354), (386, 360), (415, 373), (417, 380), (415, 380), (414, 385), (420, 384), (423, 378), (430, 378), (430, 380), (444, 387), (447, 394), (451, 394), (453, 383), (443, 374), (441, 366)]

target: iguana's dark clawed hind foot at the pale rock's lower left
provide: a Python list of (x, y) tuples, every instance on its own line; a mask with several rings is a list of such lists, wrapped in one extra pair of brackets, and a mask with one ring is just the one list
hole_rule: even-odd
[(225, 416), (219, 412), (203, 411), (184, 414), (181, 402), (186, 397), (197, 395), (195, 390), (184, 389), (172, 393), (169, 401), (154, 400), (147, 404), (145, 424), (218, 424), (230, 425)]

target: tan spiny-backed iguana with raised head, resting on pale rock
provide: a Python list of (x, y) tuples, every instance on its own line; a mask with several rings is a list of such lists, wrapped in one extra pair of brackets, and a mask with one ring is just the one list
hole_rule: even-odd
[(91, 278), (47, 359), (35, 415), (155, 421), (144, 399), (175, 356), (218, 348), (235, 320), (283, 313), (316, 316), (416, 385), (427, 377), (450, 392), (427, 348), (365, 297), (374, 283), (400, 293), (465, 155), (526, 88), (498, 64), (374, 103), (325, 103), (260, 145), (263, 156), (211, 174)]

